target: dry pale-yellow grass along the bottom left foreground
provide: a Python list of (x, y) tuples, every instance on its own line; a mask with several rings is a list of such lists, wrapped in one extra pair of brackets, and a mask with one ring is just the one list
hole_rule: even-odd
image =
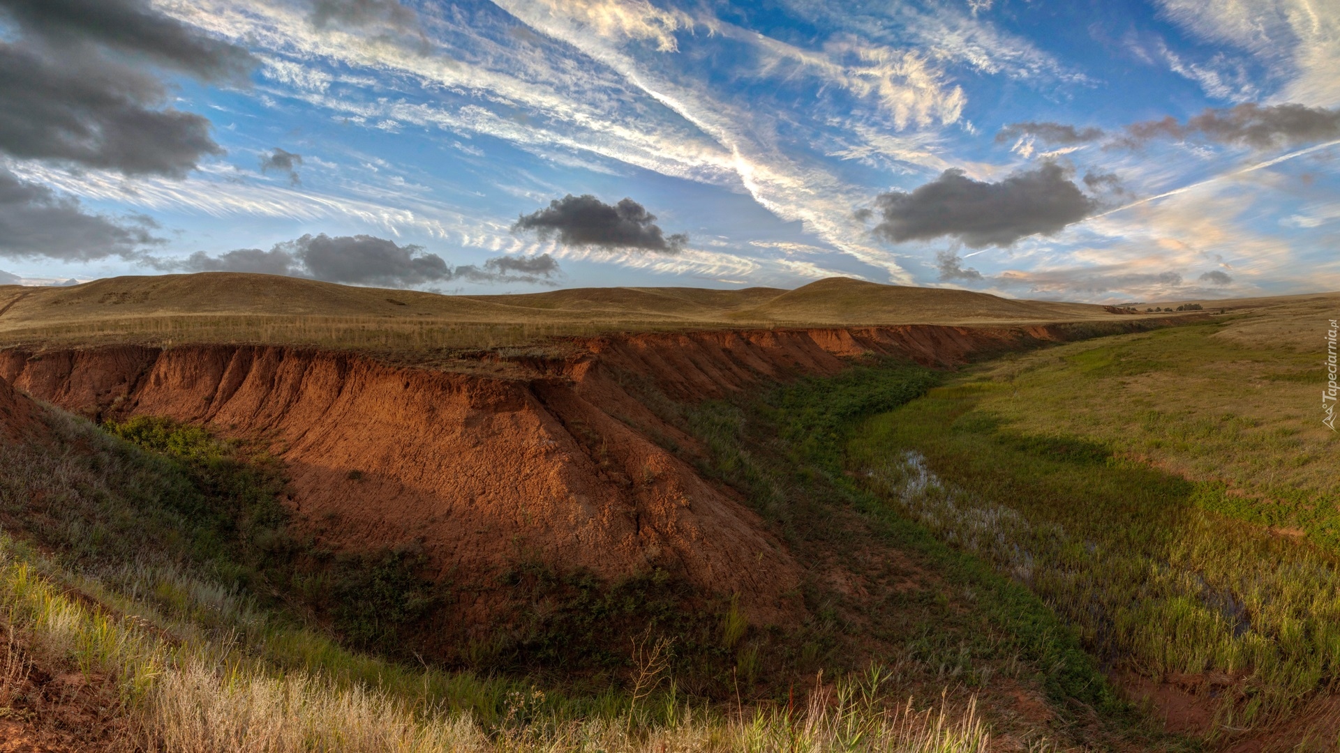
[[(102, 592), (83, 576), (83, 590)], [(147, 604), (123, 616), (67, 595), (0, 535), (0, 627), (9, 661), (0, 694), (39, 657), (54, 669), (111, 678), (127, 728), (126, 750), (232, 753), (708, 753), (807, 750), (868, 753), (986, 753), (990, 732), (976, 705), (915, 710), (887, 694), (887, 675), (820, 686), (795, 713), (752, 709), (734, 717), (674, 705), (659, 724), (630, 709), (623, 717), (561, 720), (536, 709), (488, 730), (470, 713), (410, 705), (362, 683), (308, 671), (277, 671), (252, 658), (236, 636), (200, 640), (193, 626), (168, 623)], [(15, 634), (23, 636), (16, 640)], [(16, 661), (17, 659), (17, 661)], [(543, 693), (536, 691), (537, 698)], [(516, 707), (529, 698), (517, 698)], [(532, 718), (533, 717), (533, 718)], [(492, 732), (492, 734), (490, 734)]]

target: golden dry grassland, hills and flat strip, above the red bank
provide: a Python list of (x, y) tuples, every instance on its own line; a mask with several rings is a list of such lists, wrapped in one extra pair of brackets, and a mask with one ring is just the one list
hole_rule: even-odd
[(496, 296), (225, 272), (113, 277), (70, 288), (0, 287), (0, 347), (259, 342), (413, 352), (630, 330), (1036, 324), (1114, 318), (1122, 315), (1100, 305), (851, 279), (820, 280), (795, 291), (574, 288)]

